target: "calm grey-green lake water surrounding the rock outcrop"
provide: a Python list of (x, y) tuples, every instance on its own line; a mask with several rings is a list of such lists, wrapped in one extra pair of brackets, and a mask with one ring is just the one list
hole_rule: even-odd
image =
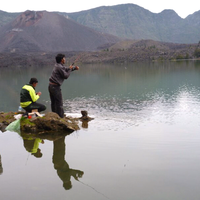
[[(31, 77), (50, 111), (51, 71), (1, 69), (0, 111), (17, 111)], [(62, 92), (66, 113), (95, 119), (38, 140), (39, 157), (30, 138), (0, 132), (1, 200), (199, 200), (200, 62), (82, 65)]]

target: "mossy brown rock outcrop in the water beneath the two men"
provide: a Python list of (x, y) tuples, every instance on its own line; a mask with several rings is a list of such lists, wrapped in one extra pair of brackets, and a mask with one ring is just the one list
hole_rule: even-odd
[[(19, 130), (21, 133), (32, 134), (70, 134), (73, 131), (79, 130), (79, 122), (82, 122), (82, 126), (87, 127), (88, 121), (93, 118), (89, 117), (87, 111), (81, 111), (82, 117), (72, 118), (65, 117), (60, 118), (56, 113), (48, 112), (43, 117), (31, 117), (22, 116), (19, 120)], [(16, 116), (21, 113), (0, 113), (0, 130), (5, 131), (5, 128), (16, 121)], [(84, 124), (84, 125), (83, 125)], [(17, 132), (17, 131), (16, 131)]]

